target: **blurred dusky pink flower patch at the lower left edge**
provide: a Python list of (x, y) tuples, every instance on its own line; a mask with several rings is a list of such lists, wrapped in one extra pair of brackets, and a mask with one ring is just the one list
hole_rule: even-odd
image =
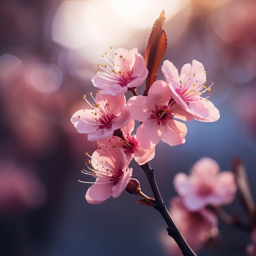
[(0, 161), (0, 214), (40, 207), (45, 197), (45, 187), (34, 175), (9, 160)]

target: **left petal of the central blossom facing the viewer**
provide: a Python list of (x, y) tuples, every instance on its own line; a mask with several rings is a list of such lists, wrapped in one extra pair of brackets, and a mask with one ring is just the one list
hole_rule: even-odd
[(134, 96), (127, 101), (127, 108), (131, 112), (132, 118), (140, 122), (145, 122), (151, 115), (150, 104), (145, 96)]

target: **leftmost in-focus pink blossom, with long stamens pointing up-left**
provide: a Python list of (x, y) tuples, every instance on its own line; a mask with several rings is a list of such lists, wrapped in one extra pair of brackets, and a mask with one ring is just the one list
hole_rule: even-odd
[[(92, 96), (92, 93), (90, 95)], [(85, 95), (83, 97), (87, 101)], [(71, 118), (71, 122), (79, 133), (88, 133), (89, 141), (107, 139), (115, 130), (128, 123), (130, 113), (125, 105), (124, 94), (116, 97), (107, 95), (102, 97), (98, 91), (94, 101), (93, 105), (87, 101), (91, 109), (79, 110)]]

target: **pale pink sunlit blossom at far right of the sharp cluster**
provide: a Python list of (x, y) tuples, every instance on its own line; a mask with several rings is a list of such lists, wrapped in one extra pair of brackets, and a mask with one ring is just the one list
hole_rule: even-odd
[[(195, 119), (204, 122), (214, 122), (220, 118), (218, 109), (202, 94), (211, 90), (206, 86), (206, 71), (202, 63), (193, 60), (191, 64), (182, 67), (179, 76), (177, 68), (170, 61), (164, 61), (162, 72), (166, 83), (172, 91), (173, 99)], [(181, 81), (181, 82), (180, 82)]]

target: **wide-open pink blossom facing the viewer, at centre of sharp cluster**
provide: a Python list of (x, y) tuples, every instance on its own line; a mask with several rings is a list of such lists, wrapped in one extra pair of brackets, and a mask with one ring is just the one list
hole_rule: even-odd
[(161, 139), (171, 146), (185, 143), (186, 125), (173, 118), (191, 120), (193, 117), (170, 100), (170, 88), (159, 80), (150, 87), (148, 97), (135, 96), (127, 101), (132, 118), (144, 122), (136, 134), (142, 148), (153, 148)]

